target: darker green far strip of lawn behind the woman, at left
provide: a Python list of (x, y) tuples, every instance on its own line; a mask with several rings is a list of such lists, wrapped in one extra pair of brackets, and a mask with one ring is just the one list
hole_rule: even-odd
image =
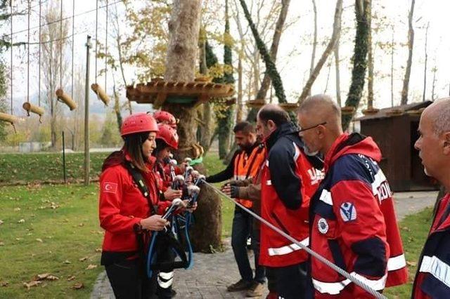
[[(108, 152), (92, 152), (91, 178), (98, 178), (103, 160)], [(65, 154), (66, 175), (68, 181), (81, 180), (84, 154)], [(63, 154), (0, 154), (0, 184), (25, 185), (29, 182), (63, 182)]]

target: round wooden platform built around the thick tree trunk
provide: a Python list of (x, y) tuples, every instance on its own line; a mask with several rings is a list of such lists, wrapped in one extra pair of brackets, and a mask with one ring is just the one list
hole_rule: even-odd
[(193, 104), (196, 107), (212, 98), (228, 98), (233, 94), (234, 88), (231, 84), (208, 81), (163, 81), (155, 78), (147, 84), (127, 86), (128, 100), (140, 104), (153, 104), (155, 109), (159, 109), (166, 100), (186, 105)]

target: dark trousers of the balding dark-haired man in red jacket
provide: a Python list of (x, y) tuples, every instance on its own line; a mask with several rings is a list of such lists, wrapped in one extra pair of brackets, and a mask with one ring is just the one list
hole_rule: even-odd
[(311, 298), (311, 289), (307, 275), (307, 263), (286, 267), (272, 267), (271, 271), (274, 272), (276, 277), (276, 292), (278, 293), (278, 298)]

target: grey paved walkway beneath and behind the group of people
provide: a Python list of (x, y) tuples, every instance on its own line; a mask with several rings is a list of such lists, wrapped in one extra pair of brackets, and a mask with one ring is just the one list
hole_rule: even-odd
[[(433, 206), (436, 197), (437, 192), (394, 194), (397, 218), (401, 220), (405, 215), (421, 211), (427, 206)], [(229, 293), (226, 291), (226, 286), (238, 281), (240, 277), (233, 251), (229, 246), (229, 239), (225, 243), (226, 251), (223, 253), (195, 253), (193, 270), (176, 270), (174, 280), (174, 287), (177, 291), (176, 298), (245, 298), (245, 292)], [(253, 258), (250, 260), (252, 261)], [(253, 265), (252, 261), (252, 267)], [(91, 298), (114, 298), (105, 272), (98, 276)]]

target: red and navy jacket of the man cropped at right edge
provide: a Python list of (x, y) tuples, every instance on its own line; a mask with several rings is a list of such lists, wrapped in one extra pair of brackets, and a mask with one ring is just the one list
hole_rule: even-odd
[(439, 201), (417, 267), (412, 298), (450, 298), (450, 193)]

